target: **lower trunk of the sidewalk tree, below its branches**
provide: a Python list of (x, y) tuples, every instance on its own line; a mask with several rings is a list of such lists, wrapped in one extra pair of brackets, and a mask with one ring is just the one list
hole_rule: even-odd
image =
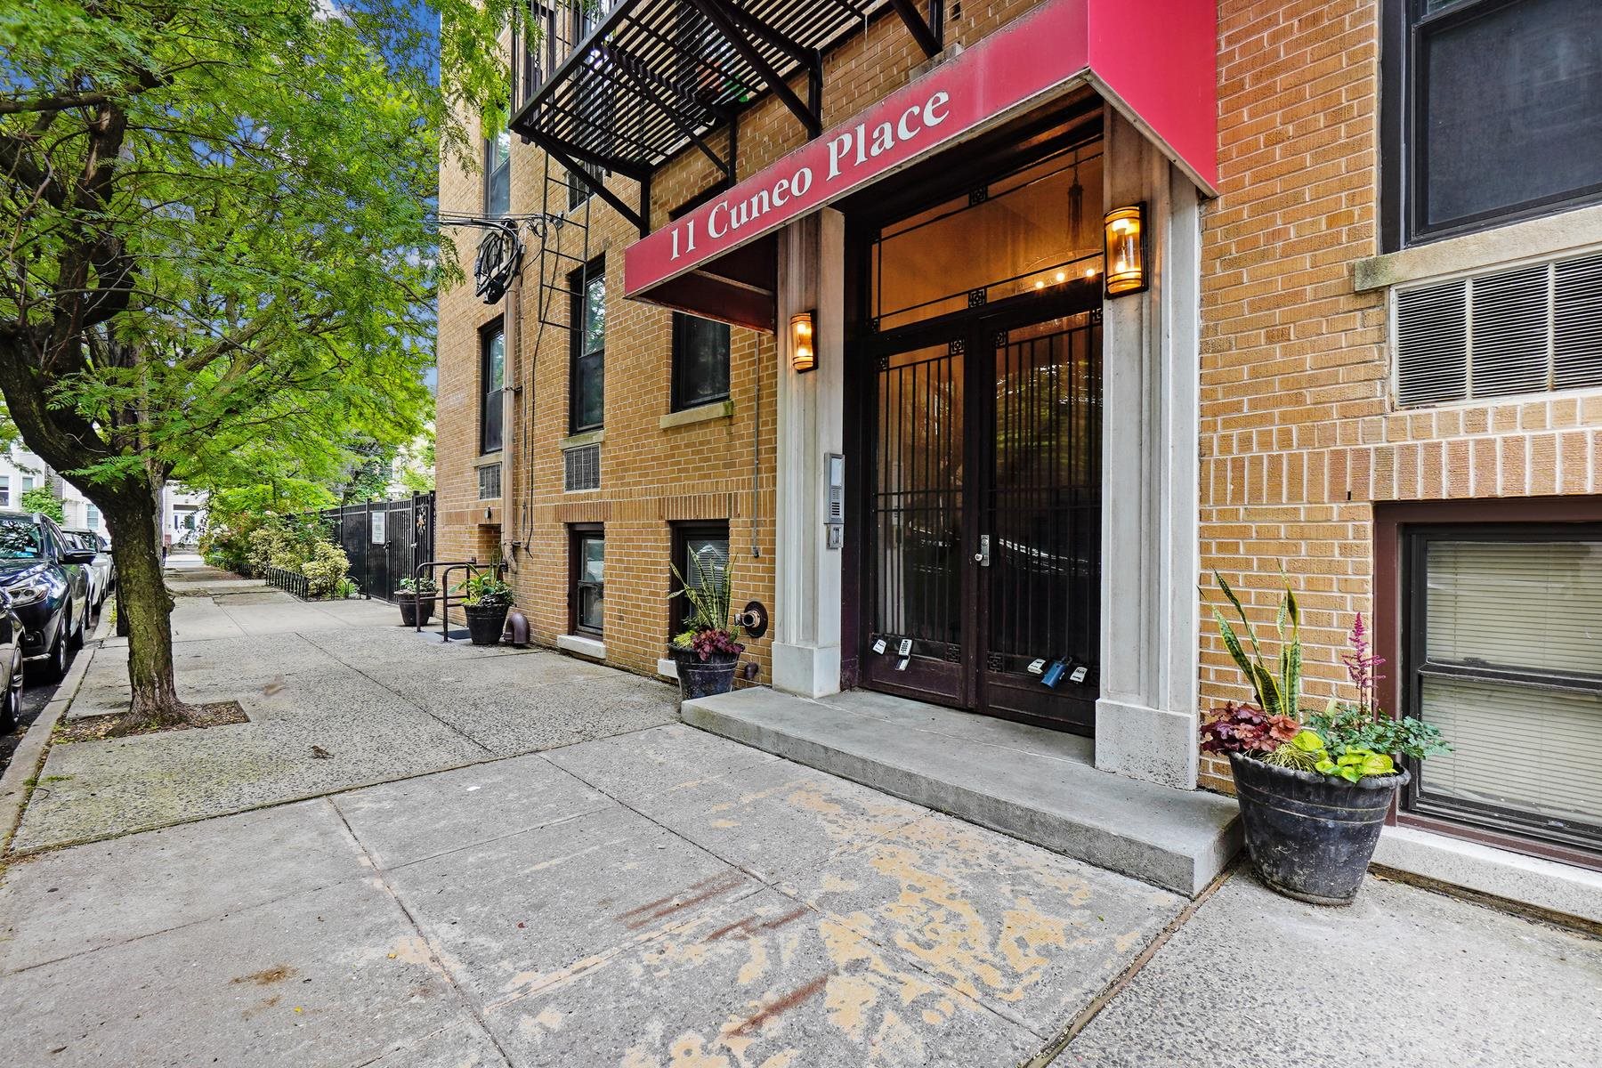
[(107, 496), (117, 540), (117, 618), (128, 624), (128, 685), (131, 714), (162, 725), (186, 722), (192, 708), (178, 700), (173, 684), (173, 599), (162, 576), (155, 535), (155, 500), (147, 487), (131, 485)]

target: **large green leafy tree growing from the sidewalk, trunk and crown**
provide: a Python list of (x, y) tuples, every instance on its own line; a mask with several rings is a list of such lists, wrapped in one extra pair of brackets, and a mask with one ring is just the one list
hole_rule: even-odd
[(477, 157), (455, 117), (505, 99), (511, 0), (434, 6), (0, 11), (0, 394), (112, 528), (135, 716), (189, 714), (159, 487), (300, 479), (428, 416), (439, 152)]

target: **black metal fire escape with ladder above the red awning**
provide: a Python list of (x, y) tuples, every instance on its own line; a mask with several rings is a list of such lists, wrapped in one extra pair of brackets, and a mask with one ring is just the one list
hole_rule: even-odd
[[(594, 199), (646, 235), (650, 176), (686, 147), (711, 162), (718, 184), (732, 186), (740, 114), (766, 93), (806, 138), (819, 136), (825, 51), (891, 13), (926, 56), (942, 51), (944, 0), (529, 0), (524, 26), (514, 27), (517, 106), (509, 128), (543, 149), (540, 210), (441, 218), (442, 226), (484, 231), (477, 295), (490, 304), (506, 296), (530, 245), (538, 279), (530, 352), (538, 360), (546, 330), (567, 335), (583, 314)], [(801, 91), (790, 85), (798, 75)], [(607, 187), (609, 175), (633, 179), (638, 197)], [(532, 370), (527, 381), (535, 381)], [(521, 408), (527, 436), (532, 387)], [(532, 464), (527, 450), (519, 452)]]

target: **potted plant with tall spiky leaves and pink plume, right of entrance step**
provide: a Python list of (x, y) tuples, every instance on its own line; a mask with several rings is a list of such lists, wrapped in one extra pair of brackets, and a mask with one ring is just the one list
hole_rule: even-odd
[(1286, 586), (1275, 629), (1280, 653), (1269, 661), (1240, 599), (1221, 575), (1219, 588), (1246, 634), (1218, 608), (1224, 647), (1245, 673), (1258, 703), (1213, 709), (1202, 724), (1202, 751), (1229, 754), (1246, 853), (1269, 887), (1315, 905), (1350, 905), (1363, 885), (1379, 829), (1399, 788), (1410, 781), (1397, 757), (1423, 761), (1448, 753), (1440, 730), (1413, 717), (1391, 717), (1375, 703), (1375, 668), (1363, 616), (1352, 624), (1352, 650), (1341, 656), (1357, 700), (1331, 698), (1320, 714), (1301, 708), (1301, 608)]

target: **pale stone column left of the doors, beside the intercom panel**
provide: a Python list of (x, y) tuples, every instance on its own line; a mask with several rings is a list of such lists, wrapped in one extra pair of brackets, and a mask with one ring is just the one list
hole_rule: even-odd
[[(827, 546), (827, 453), (844, 450), (844, 216), (823, 210), (779, 234), (779, 455), (774, 689), (839, 692), (839, 549)], [(814, 312), (817, 368), (790, 368), (790, 315)]]

